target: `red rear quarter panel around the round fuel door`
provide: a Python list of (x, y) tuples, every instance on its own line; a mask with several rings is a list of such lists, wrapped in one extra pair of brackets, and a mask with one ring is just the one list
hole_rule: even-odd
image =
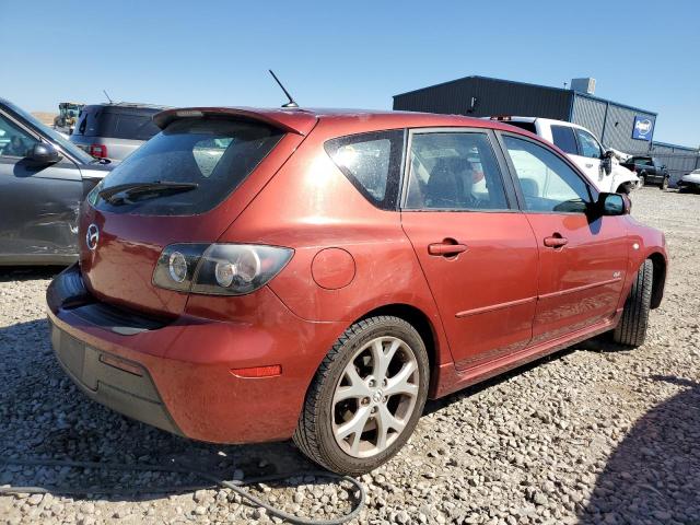
[[(358, 132), (369, 130), (362, 127)], [(371, 205), (323, 148), (326, 140), (352, 131), (324, 127), (322, 121), (220, 242), (293, 248), (291, 261), (269, 288), (305, 320), (341, 322), (338, 336), (381, 306), (407, 304), (420, 310), (432, 325), (438, 360), (452, 361), (435, 303), (401, 229), (400, 213)], [(312, 271), (312, 265), (325, 248), (351, 255), (353, 277), (347, 285), (329, 289), (316, 282), (317, 266)]]

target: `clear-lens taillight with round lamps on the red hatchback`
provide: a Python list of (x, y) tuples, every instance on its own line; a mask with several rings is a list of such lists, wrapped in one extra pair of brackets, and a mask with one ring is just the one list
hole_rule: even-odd
[(264, 287), (294, 250), (259, 244), (171, 244), (153, 270), (153, 284), (179, 292), (244, 295)]

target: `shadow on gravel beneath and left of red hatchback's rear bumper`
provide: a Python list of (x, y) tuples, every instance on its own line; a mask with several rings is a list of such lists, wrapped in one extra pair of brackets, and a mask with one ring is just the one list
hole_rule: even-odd
[(0, 486), (38, 487), (55, 494), (68, 493), (55, 487), (90, 488), (81, 500), (144, 501), (212, 485), (183, 474), (5, 466), (3, 458), (170, 465), (228, 480), (289, 475), (290, 479), (267, 483), (280, 488), (329, 482), (305, 475), (319, 468), (291, 441), (254, 445), (190, 441), (88, 399), (54, 357), (45, 319), (0, 327)]

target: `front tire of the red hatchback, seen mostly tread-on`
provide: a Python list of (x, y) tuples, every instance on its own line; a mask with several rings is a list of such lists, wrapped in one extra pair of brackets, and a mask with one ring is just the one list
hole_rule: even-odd
[(646, 259), (637, 272), (632, 290), (625, 303), (622, 317), (615, 328), (615, 342), (637, 348), (644, 342), (652, 303), (654, 264)]

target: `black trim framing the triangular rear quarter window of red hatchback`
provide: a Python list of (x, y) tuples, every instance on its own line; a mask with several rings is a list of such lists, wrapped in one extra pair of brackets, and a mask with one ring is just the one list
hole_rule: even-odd
[[(359, 133), (343, 135), (340, 137), (332, 137), (331, 139), (328, 139), (324, 142), (324, 151), (330, 159), (330, 162), (332, 162), (332, 164), (338, 170), (340, 170), (340, 173), (345, 175), (345, 177), (350, 182), (350, 184), (352, 184), (352, 186), (362, 195), (362, 197), (364, 197), (368, 200), (368, 202), (370, 202), (372, 206), (374, 206), (380, 210), (398, 211), (399, 201), (400, 201), (399, 196), (400, 196), (400, 189), (402, 184), (402, 173), (404, 173), (404, 166), (406, 162), (406, 152), (408, 151), (406, 148), (408, 133), (406, 131), (407, 131), (406, 128), (388, 128), (388, 129), (375, 129), (371, 131), (361, 131)], [(390, 142), (389, 167), (388, 167), (387, 179), (386, 179), (386, 189), (384, 191), (384, 199), (380, 201), (365, 189), (365, 187), (360, 183), (360, 180), (355, 178), (355, 176), (352, 173), (350, 173), (343, 166), (338, 165), (332, 160), (330, 143), (335, 141), (343, 141), (343, 140), (347, 140), (348, 141), (347, 143), (361, 142), (362, 141), (361, 139), (363, 137), (372, 137), (372, 136), (380, 137), (383, 133), (384, 135), (401, 133), (401, 139), (400, 141), (396, 140), (397, 143), (400, 142), (398, 148), (395, 148), (396, 144), (394, 143), (394, 140), (389, 139), (389, 142)], [(369, 140), (372, 140), (372, 139), (369, 139)], [(400, 159), (397, 159), (397, 156), (399, 155), (400, 155)], [(392, 168), (392, 166), (396, 166), (396, 167)]]

